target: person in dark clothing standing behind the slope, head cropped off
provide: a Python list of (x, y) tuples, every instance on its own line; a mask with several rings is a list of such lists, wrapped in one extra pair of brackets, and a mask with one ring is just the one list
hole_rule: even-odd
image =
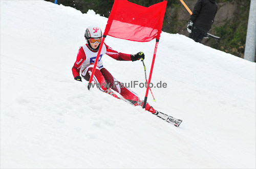
[(214, 23), (217, 10), (216, 0), (198, 0), (187, 25), (189, 38), (201, 43)]

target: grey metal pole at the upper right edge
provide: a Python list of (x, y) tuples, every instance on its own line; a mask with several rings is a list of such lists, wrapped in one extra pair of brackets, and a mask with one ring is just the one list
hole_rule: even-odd
[(248, 27), (247, 27), (247, 35), (245, 42), (245, 52), (244, 59), (254, 62), (255, 60), (255, 48), (256, 48), (256, 1), (251, 0), (250, 3), (250, 11), (249, 11), (249, 19), (248, 19)]

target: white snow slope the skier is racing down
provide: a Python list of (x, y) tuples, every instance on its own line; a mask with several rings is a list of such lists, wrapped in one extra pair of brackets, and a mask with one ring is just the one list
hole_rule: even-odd
[[(45, 1), (1, 1), (1, 168), (255, 168), (255, 63), (162, 33), (152, 82), (179, 128), (87, 82), (71, 68), (93, 11)], [(107, 37), (123, 53), (143, 51), (149, 75), (155, 41)], [(221, 41), (220, 41), (221, 43)], [(144, 82), (141, 62), (105, 55), (119, 81)], [(131, 88), (141, 99), (145, 88)]]

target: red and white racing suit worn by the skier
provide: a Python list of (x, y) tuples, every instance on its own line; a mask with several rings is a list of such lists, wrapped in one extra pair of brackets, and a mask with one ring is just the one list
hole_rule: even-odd
[[(88, 44), (85, 44), (79, 48), (76, 62), (72, 68), (74, 78), (76, 76), (80, 76), (80, 72), (81, 72), (82, 77), (87, 81), (89, 81), (97, 54), (98, 52), (91, 50)], [(124, 99), (126, 99), (127, 101), (130, 101), (135, 106), (137, 105), (142, 106), (143, 101), (139, 99), (139, 96), (129, 88), (125, 88), (125, 87), (121, 88), (120, 82), (117, 81), (115, 77), (113, 77), (112, 74), (103, 67), (101, 58), (103, 57), (104, 54), (108, 54), (111, 58), (118, 61), (132, 61), (131, 54), (117, 52), (116, 50), (113, 50), (111, 47), (109, 47), (104, 43), (100, 51), (99, 60), (98, 60), (94, 77), (93, 77), (93, 81), (96, 84), (102, 84), (102, 85), (97, 85), (98, 89), (105, 93), (111, 94), (112, 91), (108, 89), (107, 86), (105, 85), (105, 83), (109, 83), (110, 88), (118, 92)], [(119, 85), (114, 85), (114, 81), (117, 81)], [(113, 92), (111, 95), (113, 95)], [(115, 95), (114, 97), (117, 97), (117, 96)], [(152, 106), (150, 106), (148, 103), (146, 104), (145, 109), (152, 112), (153, 114), (156, 112), (156, 110)]]

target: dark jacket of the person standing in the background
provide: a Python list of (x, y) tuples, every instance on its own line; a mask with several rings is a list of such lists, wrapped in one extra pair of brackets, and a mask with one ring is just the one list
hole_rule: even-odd
[(210, 30), (212, 23), (214, 23), (217, 10), (218, 5), (216, 0), (198, 0), (189, 20), (194, 22), (194, 26)]

